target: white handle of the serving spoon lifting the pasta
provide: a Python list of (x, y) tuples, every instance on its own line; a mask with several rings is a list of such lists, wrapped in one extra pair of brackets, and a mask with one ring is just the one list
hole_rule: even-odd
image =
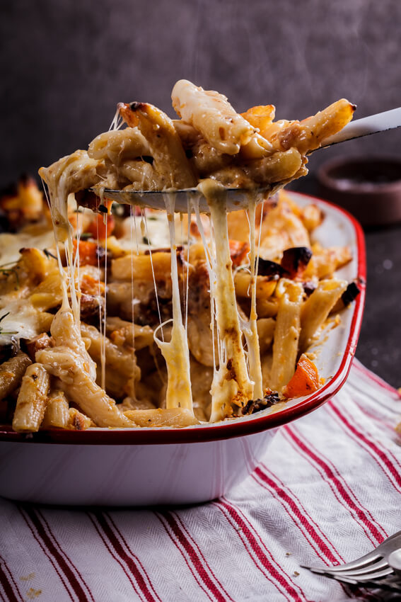
[(400, 126), (401, 108), (393, 108), (392, 110), (386, 110), (384, 113), (377, 113), (377, 115), (369, 115), (369, 117), (351, 121), (340, 132), (326, 138), (322, 148), (330, 147), (332, 144), (337, 144), (338, 142), (345, 142), (345, 140), (385, 132), (385, 130), (393, 130), (395, 127)]

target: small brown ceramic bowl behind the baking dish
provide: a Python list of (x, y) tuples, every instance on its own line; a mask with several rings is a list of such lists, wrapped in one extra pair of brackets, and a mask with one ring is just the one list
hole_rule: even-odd
[(401, 159), (342, 157), (318, 171), (319, 193), (366, 227), (401, 222)]

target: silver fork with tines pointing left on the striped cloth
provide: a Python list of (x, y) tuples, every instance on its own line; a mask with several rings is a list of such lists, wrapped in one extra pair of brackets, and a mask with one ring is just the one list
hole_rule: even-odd
[(378, 587), (401, 593), (401, 531), (380, 543), (375, 550), (338, 567), (306, 567), (310, 572), (342, 583)]

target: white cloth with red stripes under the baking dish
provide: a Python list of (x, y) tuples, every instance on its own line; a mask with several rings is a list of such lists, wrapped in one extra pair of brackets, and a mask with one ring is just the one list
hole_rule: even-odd
[(280, 428), (255, 472), (210, 504), (81, 511), (0, 501), (0, 598), (377, 599), (299, 565), (353, 560), (401, 529), (400, 414), (397, 391), (355, 361), (335, 398)]

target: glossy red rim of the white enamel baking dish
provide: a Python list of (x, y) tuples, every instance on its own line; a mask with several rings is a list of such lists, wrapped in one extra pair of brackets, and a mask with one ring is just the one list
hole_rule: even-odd
[(286, 424), (320, 407), (333, 397), (347, 380), (352, 360), (354, 359), (356, 343), (361, 331), (362, 315), (364, 312), (365, 290), (366, 290), (366, 249), (364, 232), (359, 222), (353, 215), (327, 200), (304, 195), (302, 193), (291, 193), (318, 201), (319, 205), (327, 205), (332, 210), (342, 213), (354, 227), (356, 235), (357, 250), (357, 278), (361, 292), (356, 297), (354, 314), (351, 320), (347, 346), (344, 356), (339, 365), (337, 373), (321, 389), (310, 395), (308, 399), (283, 409), (276, 414), (267, 416), (255, 416), (252, 419), (233, 419), (221, 424), (207, 424), (205, 426), (187, 428), (160, 428), (160, 429), (117, 429), (109, 428), (103, 430), (88, 431), (42, 431), (39, 433), (15, 433), (11, 426), (0, 427), (0, 441), (25, 441), (26, 443), (74, 443), (78, 445), (161, 445), (165, 443), (201, 443), (207, 441), (219, 441), (232, 437), (242, 437), (253, 433), (260, 433), (269, 428), (276, 428)]

